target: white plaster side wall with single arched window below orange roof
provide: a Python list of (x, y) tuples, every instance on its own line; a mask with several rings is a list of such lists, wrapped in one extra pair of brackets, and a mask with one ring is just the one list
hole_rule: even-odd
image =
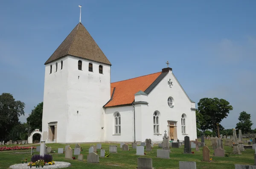
[[(105, 141), (133, 141), (134, 139), (134, 113), (133, 106), (107, 107), (105, 108)], [(121, 134), (114, 132), (114, 113), (121, 116)]]

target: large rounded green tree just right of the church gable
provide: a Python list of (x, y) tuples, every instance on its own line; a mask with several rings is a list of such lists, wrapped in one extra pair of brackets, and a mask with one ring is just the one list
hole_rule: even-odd
[[(218, 135), (217, 123), (220, 123), (222, 119), (227, 118), (230, 110), (233, 110), (233, 107), (224, 99), (200, 99), (198, 102), (198, 113), (203, 116), (200, 129), (203, 131), (212, 130), (215, 135)], [(221, 125), (219, 125), (219, 127), (224, 129)]]

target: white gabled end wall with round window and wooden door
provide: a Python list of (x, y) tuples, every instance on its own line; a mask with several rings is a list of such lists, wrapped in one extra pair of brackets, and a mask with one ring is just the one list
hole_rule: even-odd
[[(169, 87), (168, 81), (171, 79), (173, 82), (172, 88)], [(174, 107), (169, 107), (167, 100), (169, 96), (174, 99)], [(135, 109), (136, 114), (142, 115), (142, 132), (137, 141), (145, 141), (146, 138), (151, 138), (152, 141), (163, 141), (164, 130), (168, 130), (168, 120), (177, 121), (177, 138), (184, 140), (184, 136), (181, 132), (181, 115), (186, 114), (186, 134), (190, 137), (190, 140), (196, 139), (196, 123), (195, 123), (195, 111), (191, 110), (192, 103), (183, 92), (182, 88), (178, 84), (174, 75), (170, 71), (164, 79), (148, 94), (147, 98), (143, 101), (148, 102), (148, 106), (141, 106), (140, 109)], [(153, 113), (158, 110), (160, 112), (160, 134), (154, 135), (153, 128)], [(141, 111), (141, 112), (140, 112)], [(137, 124), (137, 123), (136, 123)], [(139, 127), (136, 126), (136, 130)]]

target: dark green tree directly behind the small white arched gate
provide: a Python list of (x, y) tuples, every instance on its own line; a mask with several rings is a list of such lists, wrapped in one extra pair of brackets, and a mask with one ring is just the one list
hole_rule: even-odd
[(27, 118), (27, 124), (29, 125), (29, 131), (32, 132), (35, 129), (42, 131), (42, 118), (43, 118), (43, 102), (39, 103), (29, 114)]

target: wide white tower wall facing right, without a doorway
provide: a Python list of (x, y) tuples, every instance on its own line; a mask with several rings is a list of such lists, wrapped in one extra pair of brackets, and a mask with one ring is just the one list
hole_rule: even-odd
[[(79, 60), (82, 70), (78, 70)], [(93, 72), (88, 70), (90, 62)], [(111, 98), (111, 66), (73, 56), (68, 56), (68, 63), (66, 142), (105, 141), (102, 107)], [(103, 74), (99, 73), (99, 65), (103, 66)]]

